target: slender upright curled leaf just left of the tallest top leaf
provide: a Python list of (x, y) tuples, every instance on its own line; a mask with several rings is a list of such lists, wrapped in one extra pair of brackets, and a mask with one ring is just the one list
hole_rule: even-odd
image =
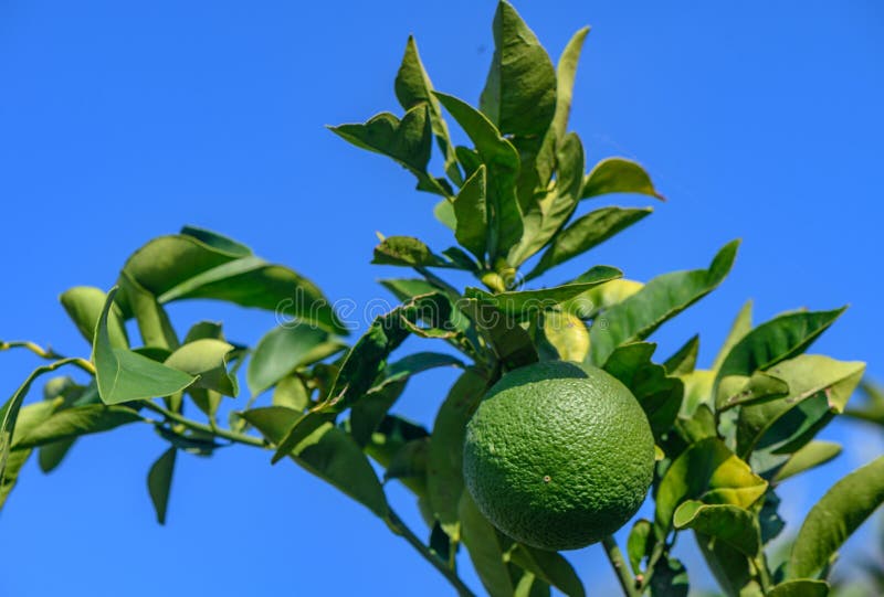
[(414, 43), (414, 38), (411, 35), (408, 36), (406, 54), (402, 56), (399, 72), (396, 74), (394, 87), (396, 97), (406, 110), (410, 110), (424, 102), (430, 107), (430, 125), (442, 154), (445, 157), (445, 173), (456, 184), (461, 184), (463, 179), (457, 169), (457, 158), (454, 153), (454, 147), (451, 145), (449, 127), (442, 118), (442, 108), (432, 94), (433, 84), (430, 82), (430, 76), (427, 74), (423, 63), (421, 63), (418, 44)]

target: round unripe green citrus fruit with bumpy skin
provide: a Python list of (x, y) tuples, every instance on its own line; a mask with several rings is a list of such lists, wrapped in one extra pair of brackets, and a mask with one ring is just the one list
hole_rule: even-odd
[(476, 505), (543, 550), (585, 547), (623, 526), (653, 468), (644, 412), (596, 367), (550, 361), (507, 373), (466, 428), (463, 472)]

